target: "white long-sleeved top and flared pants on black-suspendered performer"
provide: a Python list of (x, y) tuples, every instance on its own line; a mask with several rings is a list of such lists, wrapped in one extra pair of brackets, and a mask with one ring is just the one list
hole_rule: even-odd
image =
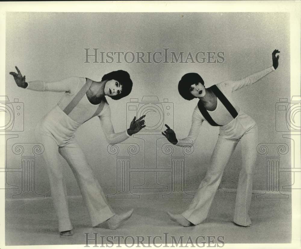
[[(242, 226), (249, 226), (251, 224), (248, 210), (251, 203), (252, 177), (256, 162), (257, 125), (251, 117), (239, 109), (230, 95), (231, 92), (255, 83), (274, 70), (273, 67), (269, 67), (246, 78), (237, 81), (228, 80), (216, 85), (235, 108), (237, 116), (234, 118), (219, 98), (217, 98), (216, 109), (214, 111), (207, 111), (212, 120), (220, 126), (219, 137), (213, 150), (206, 176), (200, 183), (194, 200), (188, 209), (182, 213), (194, 225), (206, 219), (216, 190), (222, 179), (225, 166), (238, 142), (242, 145), (242, 164), (237, 185), (233, 221)], [(206, 119), (197, 106), (192, 115), (192, 124), (188, 137), (178, 139), (176, 145), (185, 146), (187, 144), (194, 144), (204, 120)]]

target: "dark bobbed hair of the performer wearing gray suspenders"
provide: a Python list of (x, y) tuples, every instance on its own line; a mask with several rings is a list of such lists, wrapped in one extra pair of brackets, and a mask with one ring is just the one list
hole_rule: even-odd
[(130, 75), (128, 72), (123, 70), (117, 70), (110, 73), (105, 74), (101, 81), (108, 81), (108, 80), (116, 80), (122, 85), (122, 91), (120, 94), (116, 96), (109, 96), (113, 100), (119, 100), (123, 97), (126, 97), (130, 94), (133, 87), (133, 82), (130, 78)]

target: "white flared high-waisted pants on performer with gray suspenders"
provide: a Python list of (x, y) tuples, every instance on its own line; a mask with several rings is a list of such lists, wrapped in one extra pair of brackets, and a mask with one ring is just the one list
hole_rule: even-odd
[(79, 125), (57, 106), (36, 126), (36, 139), (45, 147), (43, 157), (46, 162), (45, 167), (49, 177), (51, 197), (57, 213), (59, 231), (72, 229), (59, 154), (68, 162), (73, 171), (88, 208), (92, 226), (96, 226), (114, 215), (91, 166), (73, 136)]

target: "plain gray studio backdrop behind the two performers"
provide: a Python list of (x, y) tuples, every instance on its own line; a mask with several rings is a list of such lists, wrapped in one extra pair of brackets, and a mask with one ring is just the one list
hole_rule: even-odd
[[(191, 115), (197, 104), (197, 100), (185, 101), (178, 94), (177, 85), (182, 75), (197, 72), (205, 81), (206, 87), (226, 79), (239, 79), (271, 66), (272, 51), (279, 49), (281, 51), (279, 68), (256, 84), (235, 92), (234, 99), (241, 109), (257, 122), (258, 143), (290, 145), (290, 140), (282, 138), (282, 134), (275, 129), (276, 121), (285, 123), (284, 116), (280, 121), (275, 118), (276, 103), (279, 98), (290, 98), (289, 55), (293, 51), (290, 51), (289, 46), (289, 30), (289, 14), (286, 13), (9, 12), (6, 14), (5, 95), (13, 105), (16, 105), (17, 101), (14, 99), (24, 103), (22, 107), (24, 113), (21, 113), (24, 117), (24, 131), (21, 127), (19, 130), (12, 128), (7, 132), (6, 167), (21, 168), (22, 155), (13, 152), (13, 146), (16, 143), (36, 142), (34, 137), (36, 123), (57, 104), (63, 94), (18, 88), (9, 75), (10, 71), (15, 70), (15, 65), (19, 67), (23, 75), (26, 75), (27, 81), (56, 81), (70, 76), (100, 81), (105, 73), (118, 69), (128, 71), (133, 81), (131, 94), (119, 101), (107, 98), (116, 132), (128, 128), (126, 127), (128, 120), (135, 115), (135, 109), (130, 109), (129, 106), (136, 106), (139, 109), (143, 105), (140, 107), (138, 105), (142, 97), (146, 95), (157, 98), (156, 103), (159, 103), (157, 105), (159, 109), (161, 107), (164, 109), (166, 105), (169, 105), (171, 109), (169, 109), (168, 116), (166, 110), (161, 114), (156, 113), (156, 110), (159, 110), (154, 108), (145, 111), (147, 112), (146, 123), (153, 127), (157, 125), (157, 131), (125, 141), (125, 143), (138, 145), (139, 152), (135, 152), (136, 154), (126, 154), (125, 148), (120, 148), (125, 151), (120, 151), (120, 153), (130, 155), (131, 168), (169, 168), (172, 155), (163, 153), (162, 146), (167, 140), (157, 135), (160, 134), (158, 130), (166, 122), (172, 126), (178, 138), (186, 137), (191, 125)], [(87, 62), (85, 49), (89, 49), (88, 53), (93, 54), (94, 48), (97, 49), (99, 63), (93, 63), (94, 57), (91, 56), (88, 57), (88, 63), (85, 63)], [(134, 55), (140, 51), (147, 55), (147, 52), (163, 53), (167, 51), (164, 50), (167, 48), (168, 52), (174, 51), (176, 55), (182, 51), (184, 61), (189, 52), (194, 56), (200, 51), (205, 53), (205, 56), (201, 54), (201, 57), (207, 57), (207, 59), (204, 59), (204, 63), (198, 63), (195, 60), (195, 63), (192, 60), (188, 60), (188, 63), (179, 61), (163, 63), (164, 56), (160, 57), (157, 53), (155, 59), (157, 58), (157, 61), (160, 58), (163, 59), (161, 63), (155, 63), (153, 59), (151, 63), (141, 61), (141, 63), (136, 63), (137, 59), (132, 63), (127, 63), (122, 56), (120, 63), (116, 56), (112, 63), (109, 63), (112, 60), (100, 63), (100, 52), (104, 52), (104, 56), (108, 51), (132, 52)], [(223, 63), (208, 63), (207, 52), (223, 52)], [(132, 60), (131, 56), (132, 54), (128, 53), (128, 62)], [(216, 55), (210, 60), (212, 62), (215, 59), (218, 59)], [(147, 58), (144, 60), (147, 61)], [(171, 61), (171, 57), (168, 60)], [(136, 109), (137, 112), (138, 109)], [(15, 127), (17, 127), (17, 122), (23, 122), (21, 116), (15, 117)], [(18, 137), (8, 139), (11, 134), (17, 134)], [(217, 127), (210, 127), (206, 122), (203, 123), (194, 145), (194, 152), (184, 155), (187, 191), (195, 190), (204, 177), (217, 135)], [(76, 138), (105, 193), (115, 193), (118, 155), (107, 151), (108, 144), (98, 118), (95, 117), (83, 124), (76, 132)], [(173, 153), (175, 156), (183, 157), (181, 148), (175, 148)], [(68, 195), (79, 195), (72, 171), (63, 158), (61, 162)], [(289, 153), (282, 155), (280, 162), (281, 167), (290, 167)], [(236, 188), (240, 164), (240, 146), (238, 145), (225, 169), (221, 187)], [(265, 190), (265, 166), (265, 155), (258, 154), (253, 189)], [(36, 155), (36, 192), (50, 196), (45, 167), (47, 165), (42, 155)], [(7, 186), (20, 186), (22, 172), (16, 171), (7, 173)], [(170, 172), (157, 173), (157, 179), (155, 176), (156, 173), (133, 172), (130, 175), (131, 191), (141, 192), (141, 189), (132, 187), (143, 185), (144, 180), (149, 177), (146, 192), (157, 191), (154, 189), (158, 189), (160, 185), (167, 186), (168, 189), (161, 190), (168, 192)], [(290, 174), (282, 174), (280, 180), (282, 185), (290, 184)], [(154, 184), (153, 190), (152, 184)], [(159, 187), (159, 191), (161, 190)], [(20, 188), (6, 191), (7, 198), (11, 198), (12, 194), (17, 194), (19, 191)]]

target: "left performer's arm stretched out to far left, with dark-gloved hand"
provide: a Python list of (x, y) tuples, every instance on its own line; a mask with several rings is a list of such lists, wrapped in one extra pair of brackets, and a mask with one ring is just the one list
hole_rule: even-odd
[(9, 74), (14, 77), (18, 87), (26, 88), (33, 91), (51, 91), (51, 92), (71, 92), (79, 84), (78, 77), (69, 77), (61, 81), (25, 81), (25, 75), (22, 76), (20, 70), (15, 67), (18, 73), (10, 72)]

